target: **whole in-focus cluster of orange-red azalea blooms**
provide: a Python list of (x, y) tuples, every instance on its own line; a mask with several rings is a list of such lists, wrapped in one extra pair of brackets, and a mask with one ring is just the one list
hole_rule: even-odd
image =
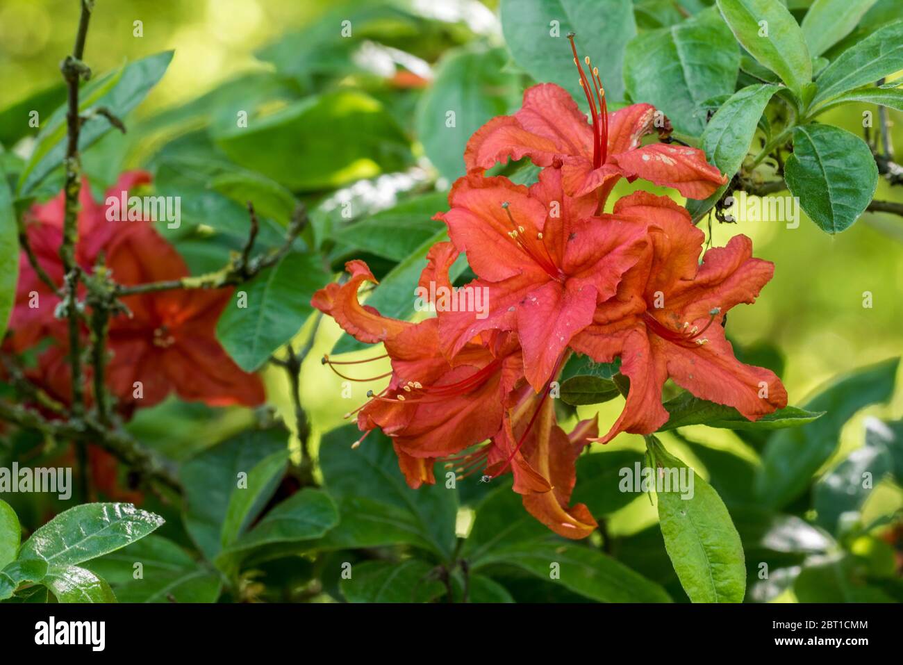
[[(668, 417), (666, 379), (750, 420), (785, 407), (787, 393), (772, 372), (737, 361), (725, 339), (725, 314), (752, 303), (774, 269), (752, 258), (748, 238), (736, 236), (700, 262), (703, 232), (671, 199), (635, 192), (604, 212), (621, 177), (694, 198), (725, 177), (695, 148), (642, 145), (656, 128), (666, 136), (666, 118), (647, 104), (609, 113), (598, 70), (586, 75), (574, 56), (589, 122), (560, 87), (527, 89), (516, 114), (493, 118), (470, 138), (468, 174), (452, 186), (450, 210), (434, 218), (451, 242), (433, 246), (420, 286), (451, 289), (449, 268), (466, 253), (477, 278), (462, 288), (487, 289), (488, 314), (437, 307), (420, 323), (382, 316), (358, 302), (358, 288), (377, 281), (362, 261), (350, 261), (349, 280), (321, 289), (312, 303), (359, 341), (385, 346), (388, 385), (352, 413), (364, 436), (378, 427), (391, 438), (412, 487), (435, 482), (437, 460), (461, 478), (510, 471), (526, 510), (579, 539), (596, 522), (586, 506), (570, 505), (577, 455), (619, 432), (655, 432)], [(485, 175), (508, 157), (542, 167), (538, 182)], [(629, 379), (623, 412), (604, 436), (596, 418), (570, 435), (555, 422), (550, 386), (573, 351), (598, 362), (619, 358)]]

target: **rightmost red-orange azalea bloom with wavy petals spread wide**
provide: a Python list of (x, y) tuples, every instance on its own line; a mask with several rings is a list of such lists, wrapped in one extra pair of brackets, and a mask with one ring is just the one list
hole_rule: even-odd
[(620, 356), (620, 371), (630, 379), (624, 411), (602, 443), (622, 431), (651, 434), (662, 426), (668, 378), (698, 398), (735, 407), (749, 420), (786, 407), (780, 379), (738, 361), (722, 327), (731, 307), (755, 301), (774, 264), (752, 258), (752, 242), (740, 235), (727, 247), (707, 251), (700, 265), (703, 232), (666, 197), (635, 192), (618, 201), (614, 213), (649, 225), (652, 242), (618, 294), (572, 342), (594, 361)]

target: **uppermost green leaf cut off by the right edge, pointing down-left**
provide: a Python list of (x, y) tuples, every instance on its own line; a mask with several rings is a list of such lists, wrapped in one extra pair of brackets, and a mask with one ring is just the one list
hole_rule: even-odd
[(819, 75), (813, 104), (903, 69), (903, 21), (890, 23), (842, 52)]

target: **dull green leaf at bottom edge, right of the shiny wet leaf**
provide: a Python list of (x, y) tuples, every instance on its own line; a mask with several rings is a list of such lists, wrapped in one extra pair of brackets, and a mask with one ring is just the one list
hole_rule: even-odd
[[(135, 578), (141, 564), (141, 576)], [(86, 566), (107, 580), (121, 603), (215, 603), (222, 579), (185, 550), (159, 536), (148, 536)]]

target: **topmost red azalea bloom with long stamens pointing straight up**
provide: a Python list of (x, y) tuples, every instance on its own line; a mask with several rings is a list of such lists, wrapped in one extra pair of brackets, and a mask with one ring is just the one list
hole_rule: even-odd
[(541, 83), (526, 90), (517, 113), (492, 118), (470, 137), (464, 151), (468, 172), (481, 172), (508, 157), (528, 156), (537, 166), (563, 164), (565, 191), (582, 196), (600, 189), (602, 204), (621, 177), (674, 187), (691, 199), (704, 199), (727, 182), (705, 161), (702, 150), (662, 143), (641, 146), (643, 136), (656, 131), (656, 109), (634, 104), (609, 113), (599, 70), (591, 69), (588, 79), (573, 38), (571, 47), (590, 105), (590, 124), (566, 90)]

